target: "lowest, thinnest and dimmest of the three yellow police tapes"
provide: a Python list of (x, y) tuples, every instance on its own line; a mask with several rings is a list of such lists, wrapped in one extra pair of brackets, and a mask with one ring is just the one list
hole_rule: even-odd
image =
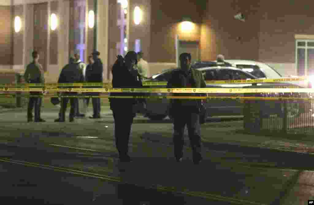
[(243, 97), (243, 96), (66, 96), (66, 95), (30, 95), (30, 94), (0, 94), (0, 97), (15, 98), (15, 97), (68, 97), (68, 98), (152, 98), (152, 99), (208, 99), (208, 100), (305, 100), (314, 101), (311, 97)]

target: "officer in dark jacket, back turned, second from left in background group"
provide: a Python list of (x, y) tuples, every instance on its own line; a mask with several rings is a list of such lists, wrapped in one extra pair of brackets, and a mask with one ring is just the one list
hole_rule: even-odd
[[(84, 76), (82, 70), (78, 69), (77, 64), (74, 63), (75, 59), (70, 58), (69, 64), (67, 64), (61, 71), (58, 83), (83, 83)], [(76, 96), (77, 92), (65, 92), (62, 95)], [(71, 109), (70, 109), (70, 122), (74, 121), (75, 109), (76, 109), (76, 100), (74, 97), (62, 97), (61, 98), (61, 109), (59, 114), (59, 119), (56, 119), (55, 122), (64, 122), (65, 121), (65, 112), (67, 110), (67, 104), (70, 100)]]

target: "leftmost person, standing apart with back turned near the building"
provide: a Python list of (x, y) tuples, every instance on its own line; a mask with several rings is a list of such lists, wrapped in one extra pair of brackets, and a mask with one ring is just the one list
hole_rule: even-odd
[[(27, 83), (45, 83), (44, 70), (39, 64), (39, 54), (32, 52), (33, 62), (27, 65), (24, 79)], [(41, 92), (30, 92), (30, 95), (41, 95)], [(33, 121), (33, 108), (35, 107), (35, 122), (46, 122), (41, 119), (41, 97), (30, 97), (27, 108), (27, 122)]]

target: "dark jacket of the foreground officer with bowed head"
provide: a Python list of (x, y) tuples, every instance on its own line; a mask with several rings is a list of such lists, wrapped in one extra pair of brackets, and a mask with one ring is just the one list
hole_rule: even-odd
[[(129, 71), (124, 63), (120, 63), (119, 60), (115, 62), (112, 67), (112, 87), (113, 88), (139, 88), (142, 87), (142, 79), (138, 71), (133, 69)], [(138, 96), (142, 93), (110, 93), (110, 96)], [(143, 102), (144, 99), (133, 98), (109, 98), (110, 108), (113, 109), (130, 109), (131, 106)]]

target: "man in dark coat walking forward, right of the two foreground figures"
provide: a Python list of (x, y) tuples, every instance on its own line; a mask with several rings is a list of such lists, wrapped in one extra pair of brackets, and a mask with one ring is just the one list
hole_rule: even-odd
[[(191, 54), (180, 55), (181, 69), (174, 71), (167, 83), (168, 88), (204, 88), (206, 83), (201, 71), (191, 69)], [(176, 93), (174, 96), (199, 96), (200, 94)], [(206, 95), (206, 94), (204, 94)], [(171, 100), (170, 115), (174, 120), (174, 153), (177, 162), (181, 162), (184, 146), (184, 128), (187, 125), (188, 135), (193, 152), (193, 163), (202, 160), (200, 113), (202, 100), (173, 99)]]

